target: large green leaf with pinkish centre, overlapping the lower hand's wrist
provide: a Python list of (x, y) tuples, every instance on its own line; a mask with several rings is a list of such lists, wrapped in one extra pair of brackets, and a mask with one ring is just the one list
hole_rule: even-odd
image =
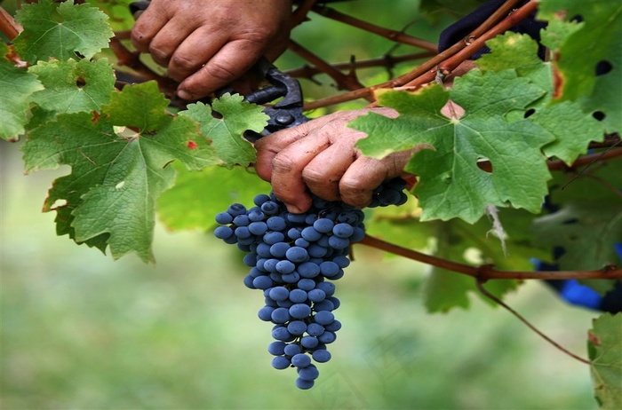
[[(377, 158), (433, 147), (414, 154), (405, 168), (419, 176), (414, 193), (423, 209), (421, 220), (460, 217), (473, 223), (487, 205), (512, 205), (535, 213), (550, 177), (540, 148), (554, 136), (525, 119), (509, 122), (506, 114), (524, 110), (543, 94), (512, 70), (472, 70), (456, 79), (451, 91), (431, 86), (414, 94), (382, 93), (380, 105), (395, 108), (400, 116), (368, 114), (350, 126), (367, 132), (357, 146)], [(441, 114), (450, 95), (464, 115)], [(482, 159), (490, 161), (492, 172), (477, 166)]]

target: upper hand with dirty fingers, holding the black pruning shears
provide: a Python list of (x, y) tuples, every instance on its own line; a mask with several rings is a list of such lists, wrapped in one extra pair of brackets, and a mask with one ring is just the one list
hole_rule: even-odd
[(239, 79), (262, 56), (281, 55), (290, 18), (291, 0), (152, 0), (132, 28), (132, 43), (168, 68), (179, 98), (200, 99)]

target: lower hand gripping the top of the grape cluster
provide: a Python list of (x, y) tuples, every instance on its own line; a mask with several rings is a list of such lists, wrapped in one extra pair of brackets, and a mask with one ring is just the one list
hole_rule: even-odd
[(404, 151), (376, 160), (355, 148), (356, 141), (366, 134), (348, 128), (347, 122), (370, 111), (397, 117), (389, 108), (339, 111), (260, 138), (255, 143), (257, 174), (271, 182), (275, 195), (290, 212), (310, 208), (309, 191), (325, 200), (363, 208), (384, 180), (403, 175), (412, 154)]

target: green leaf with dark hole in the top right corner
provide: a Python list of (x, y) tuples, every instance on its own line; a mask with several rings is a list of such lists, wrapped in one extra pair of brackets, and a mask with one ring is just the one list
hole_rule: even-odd
[[(564, 11), (564, 12), (560, 12)], [(559, 98), (580, 102), (604, 116), (608, 132), (622, 130), (622, 4), (585, 0), (542, 0), (540, 18), (581, 20), (554, 49)], [(597, 70), (602, 75), (596, 75)]]

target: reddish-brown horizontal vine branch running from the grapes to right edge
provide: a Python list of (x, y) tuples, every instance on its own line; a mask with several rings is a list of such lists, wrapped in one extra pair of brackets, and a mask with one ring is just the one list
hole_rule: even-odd
[(460, 264), (441, 257), (427, 255), (417, 250), (403, 248), (394, 243), (381, 240), (371, 235), (366, 235), (360, 242), (362, 245), (371, 248), (385, 250), (395, 255), (403, 256), (424, 264), (431, 264), (437, 268), (451, 272), (462, 273), (471, 276), (482, 283), (487, 280), (496, 279), (515, 279), (515, 280), (566, 280), (566, 279), (602, 279), (602, 280), (622, 280), (622, 269), (615, 264), (606, 264), (601, 269), (593, 271), (556, 271), (556, 272), (532, 272), (532, 271), (501, 271), (494, 268), (491, 264), (472, 266)]

